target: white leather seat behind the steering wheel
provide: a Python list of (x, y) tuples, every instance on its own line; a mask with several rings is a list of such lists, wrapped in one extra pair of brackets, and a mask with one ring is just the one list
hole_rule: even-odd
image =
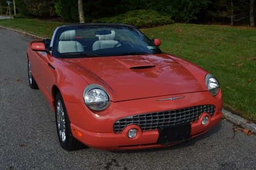
[(99, 38), (99, 41), (93, 43), (93, 51), (104, 48), (113, 48), (118, 43), (118, 41), (115, 41), (116, 32), (114, 30), (111, 30), (111, 34), (96, 36)]

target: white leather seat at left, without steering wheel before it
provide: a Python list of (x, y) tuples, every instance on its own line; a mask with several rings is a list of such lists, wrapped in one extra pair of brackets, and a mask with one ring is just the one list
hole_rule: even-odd
[(61, 33), (58, 45), (59, 53), (76, 53), (84, 51), (83, 46), (80, 42), (73, 41), (75, 39), (75, 35), (75, 30), (68, 30)]

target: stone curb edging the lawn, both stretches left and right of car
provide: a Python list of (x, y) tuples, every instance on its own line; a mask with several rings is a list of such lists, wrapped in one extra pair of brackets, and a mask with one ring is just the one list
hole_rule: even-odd
[[(8, 28), (8, 27), (3, 27), (3, 26), (0, 26), (0, 28), (3, 28), (3, 29), (7, 29), (7, 30), (11, 30), (11, 31), (15, 31), (15, 32), (18, 32), (18, 33), (22, 33), (22, 34), (25, 34), (25, 35), (28, 35), (28, 36), (32, 36), (32, 37), (35, 37), (37, 39), (45, 39), (47, 37), (40, 37), (40, 36), (37, 36), (37, 35), (34, 35), (34, 34), (30, 34), (30, 33), (26, 33), (26, 32), (23, 32), (23, 31), (19, 31), (19, 30), (15, 30), (15, 29), (11, 29), (11, 28)], [(246, 128), (248, 130), (250, 130), (251, 132), (253, 133), (256, 133), (256, 124), (254, 123), (247, 123), (247, 120), (236, 115), (236, 114), (232, 114), (231, 112), (225, 110), (225, 109), (222, 109), (222, 113), (223, 113), (223, 117), (227, 120), (229, 120), (230, 122), (234, 123), (234, 124), (237, 124), (243, 128)]]

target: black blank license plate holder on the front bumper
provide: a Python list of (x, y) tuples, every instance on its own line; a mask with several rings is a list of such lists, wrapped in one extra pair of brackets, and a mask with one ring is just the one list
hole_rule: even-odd
[(168, 144), (173, 142), (178, 142), (182, 140), (187, 140), (190, 137), (190, 124), (181, 124), (177, 126), (160, 127), (159, 137), (157, 143)]

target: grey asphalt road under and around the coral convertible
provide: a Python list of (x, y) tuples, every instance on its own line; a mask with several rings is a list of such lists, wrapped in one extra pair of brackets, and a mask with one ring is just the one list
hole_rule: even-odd
[(137, 151), (61, 149), (54, 114), (27, 82), (31, 37), (0, 29), (0, 169), (256, 169), (256, 137), (222, 121), (172, 148)]

